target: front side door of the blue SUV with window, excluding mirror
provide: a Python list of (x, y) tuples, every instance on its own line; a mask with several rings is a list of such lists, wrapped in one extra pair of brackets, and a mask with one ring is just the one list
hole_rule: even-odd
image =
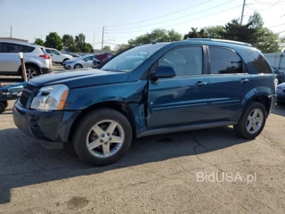
[(148, 128), (202, 123), (208, 107), (202, 46), (175, 48), (159, 59), (160, 65), (173, 67), (176, 76), (149, 80)]

